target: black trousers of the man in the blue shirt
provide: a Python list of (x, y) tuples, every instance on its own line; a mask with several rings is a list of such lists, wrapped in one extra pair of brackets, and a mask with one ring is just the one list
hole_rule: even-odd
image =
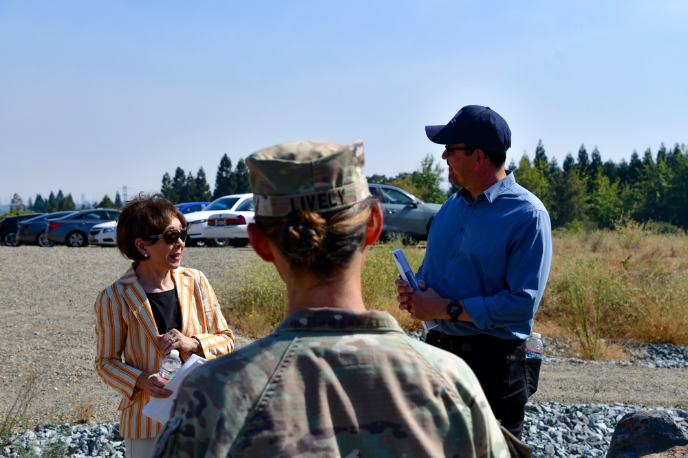
[[(492, 411), (502, 426), (521, 438), (524, 407), (537, 389), (540, 360), (526, 369), (525, 342), (497, 339), (486, 334), (448, 336), (430, 331), (427, 343), (466, 361), (482, 386)], [(531, 360), (528, 360), (531, 363)], [(537, 371), (534, 365), (537, 364)]]

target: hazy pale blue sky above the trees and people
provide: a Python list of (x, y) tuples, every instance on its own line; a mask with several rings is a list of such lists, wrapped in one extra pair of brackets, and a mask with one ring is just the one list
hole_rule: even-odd
[[(685, 1), (3, 1), (0, 205), (160, 189), (296, 139), (363, 139), (366, 174), (442, 148), (467, 104), (559, 164), (688, 143)], [(517, 177), (518, 179), (518, 177)]]

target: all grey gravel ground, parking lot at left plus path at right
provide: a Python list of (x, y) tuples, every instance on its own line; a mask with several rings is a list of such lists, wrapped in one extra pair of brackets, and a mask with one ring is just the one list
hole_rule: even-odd
[[(188, 248), (182, 264), (199, 268), (217, 288), (252, 255), (250, 248)], [(114, 248), (0, 246), (0, 414), (38, 376), (28, 409), (33, 424), (72, 420), (81, 404), (92, 406), (95, 422), (118, 421), (119, 395), (94, 371), (93, 303), (128, 266)], [(531, 401), (685, 407), (687, 371), (546, 358)]]

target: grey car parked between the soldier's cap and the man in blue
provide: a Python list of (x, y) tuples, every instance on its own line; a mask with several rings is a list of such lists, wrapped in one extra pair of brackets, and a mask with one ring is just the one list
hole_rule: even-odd
[(383, 237), (400, 233), (416, 240), (428, 240), (430, 225), (442, 205), (423, 203), (413, 194), (392, 185), (368, 183), (368, 187), (383, 204)]

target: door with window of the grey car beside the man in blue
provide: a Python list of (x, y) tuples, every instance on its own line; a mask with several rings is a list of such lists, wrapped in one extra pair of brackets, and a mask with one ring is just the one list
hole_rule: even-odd
[(391, 187), (378, 187), (385, 214), (385, 231), (422, 237), (425, 234), (425, 211), (415, 198)]

